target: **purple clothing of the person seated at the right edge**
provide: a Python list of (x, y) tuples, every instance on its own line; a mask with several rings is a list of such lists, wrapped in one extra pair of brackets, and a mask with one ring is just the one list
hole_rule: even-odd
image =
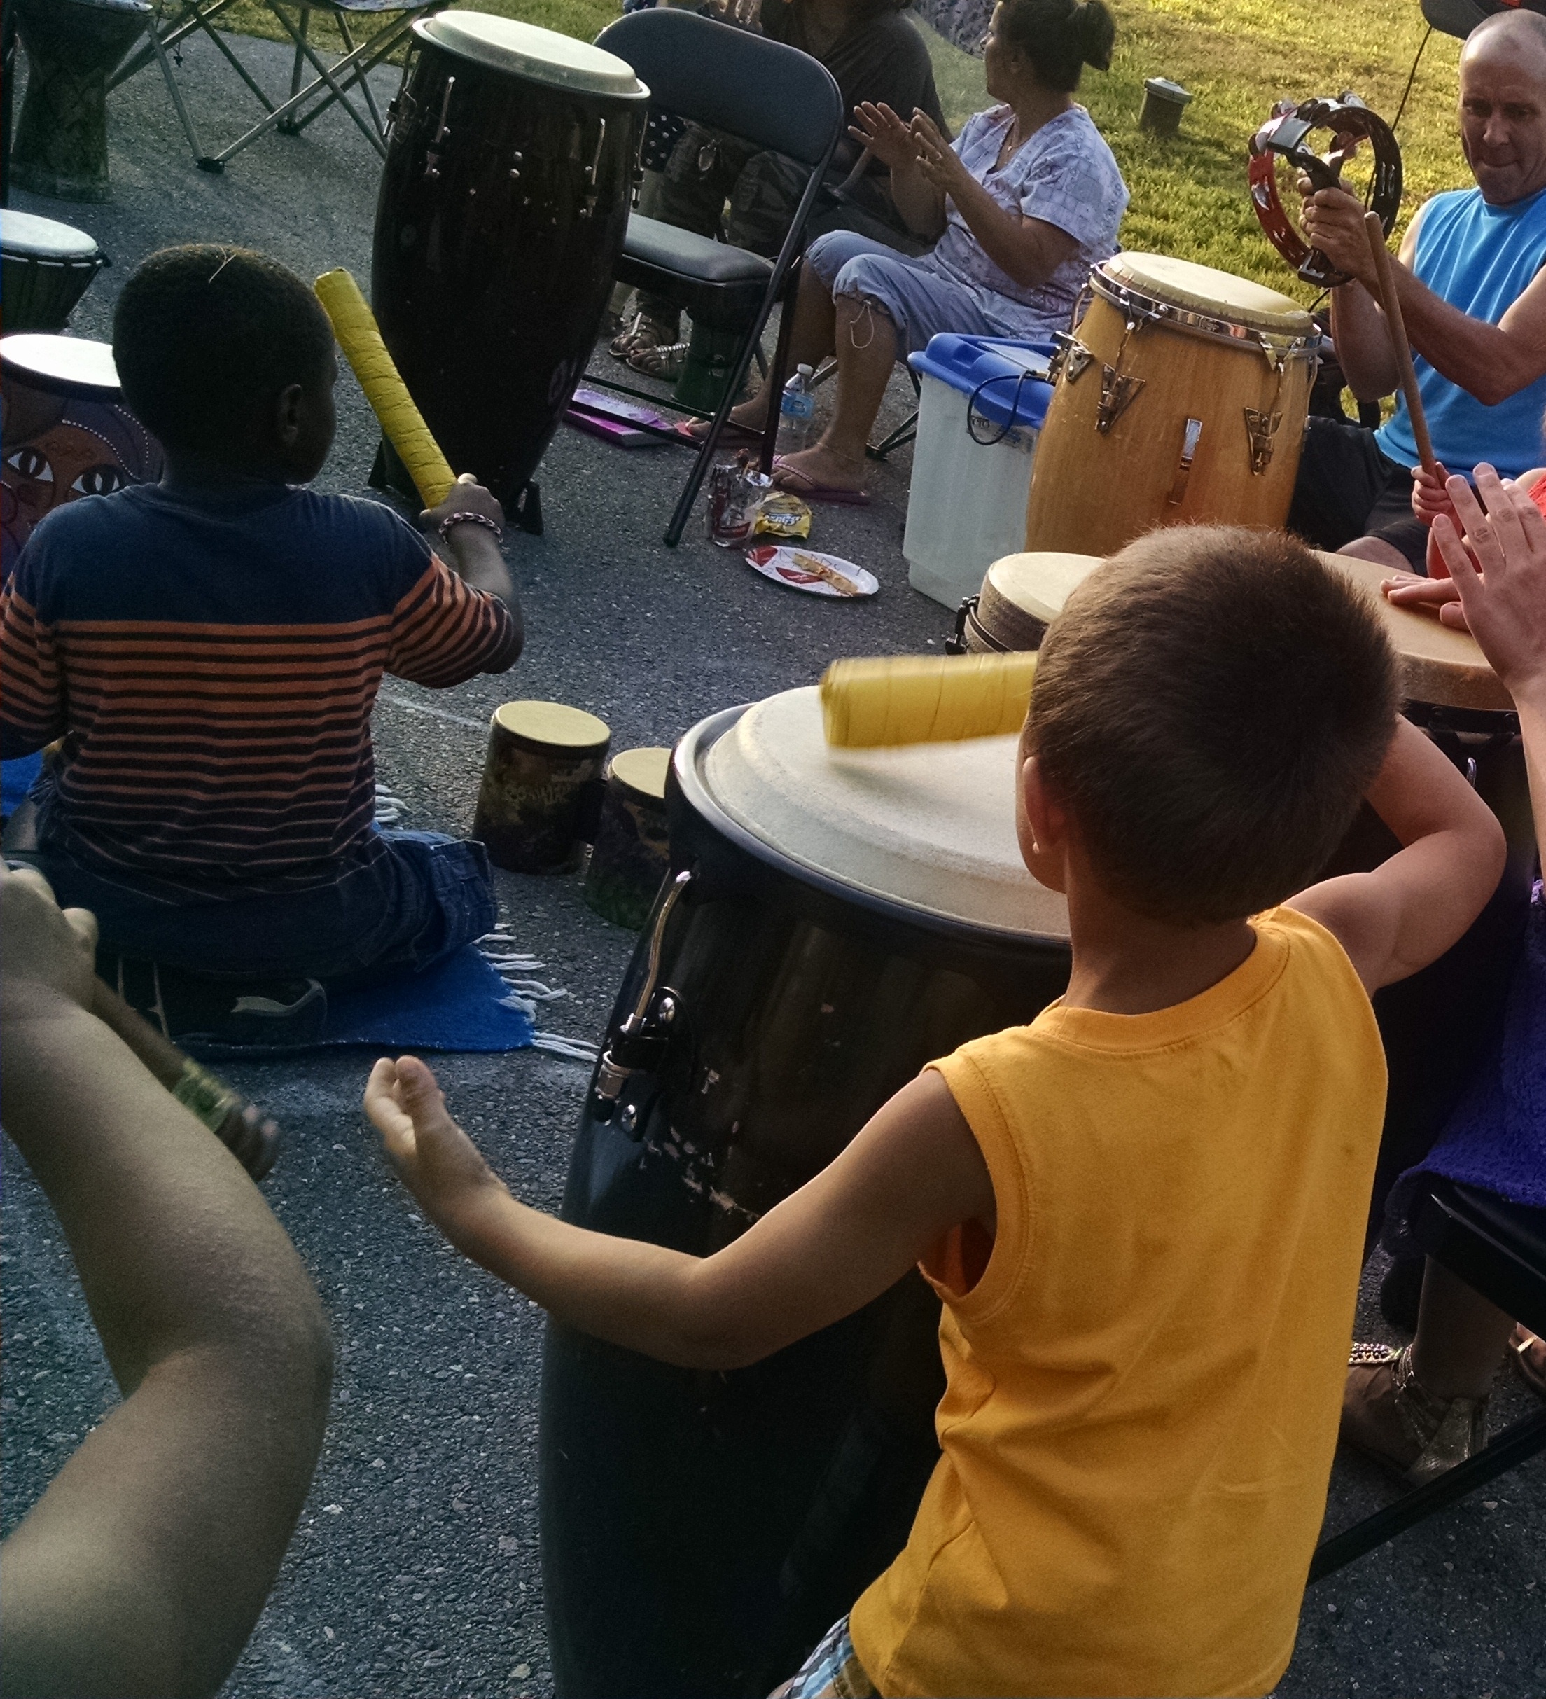
[(1424, 1174), (1546, 1210), (1546, 897), (1539, 882), (1498, 1041), (1427, 1159), (1396, 1181), (1386, 1211), (1391, 1223), (1407, 1220)]

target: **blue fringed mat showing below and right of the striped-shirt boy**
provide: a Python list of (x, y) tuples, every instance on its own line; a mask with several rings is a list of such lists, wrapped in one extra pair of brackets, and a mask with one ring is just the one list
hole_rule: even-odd
[(369, 1047), (381, 1052), (527, 1050), (535, 1038), (530, 1014), (477, 945), (423, 974), (404, 974), (364, 991), (328, 992), (323, 1036), (302, 1045), (214, 1045), (178, 1040), (200, 1062), (299, 1055), (302, 1050)]

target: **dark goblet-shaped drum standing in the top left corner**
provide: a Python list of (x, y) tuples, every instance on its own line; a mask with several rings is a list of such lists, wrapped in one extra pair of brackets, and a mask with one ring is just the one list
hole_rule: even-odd
[(144, 34), (146, 0), (12, 0), (27, 49), (27, 93), (12, 180), (34, 195), (110, 200), (107, 78)]

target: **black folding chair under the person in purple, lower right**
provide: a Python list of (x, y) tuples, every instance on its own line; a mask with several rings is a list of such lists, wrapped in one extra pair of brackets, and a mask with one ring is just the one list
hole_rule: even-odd
[[(1546, 1335), (1546, 1210), (1526, 1210), (1475, 1186), (1429, 1176), (1408, 1218), (1419, 1245), (1436, 1262), (1515, 1322)], [(1475, 1458), (1323, 1539), (1310, 1565), (1310, 1582), (1334, 1575), (1539, 1451), (1546, 1451), (1546, 1408), (1505, 1427)]]

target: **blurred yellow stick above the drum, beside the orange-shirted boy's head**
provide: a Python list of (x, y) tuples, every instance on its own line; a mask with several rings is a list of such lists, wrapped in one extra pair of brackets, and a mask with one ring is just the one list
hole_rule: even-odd
[(1018, 732), (1035, 671), (1030, 652), (834, 661), (821, 680), (827, 742), (866, 749)]

